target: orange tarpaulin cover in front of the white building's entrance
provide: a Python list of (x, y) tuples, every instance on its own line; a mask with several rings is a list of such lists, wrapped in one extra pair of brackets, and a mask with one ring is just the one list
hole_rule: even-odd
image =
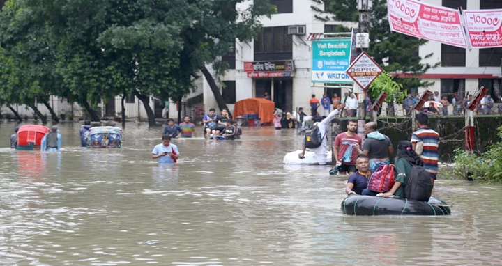
[(248, 98), (235, 103), (234, 117), (245, 114), (257, 114), (260, 123), (271, 123), (273, 121), (273, 112), (275, 103), (265, 98)]

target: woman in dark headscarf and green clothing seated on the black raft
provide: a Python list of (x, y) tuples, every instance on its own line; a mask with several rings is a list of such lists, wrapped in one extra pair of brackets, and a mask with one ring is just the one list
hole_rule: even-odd
[(394, 159), (396, 177), (395, 183), (390, 191), (377, 196), (397, 196), (404, 198), (404, 188), (408, 183), (408, 177), (411, 173), (411, 166), (416, 164), (418, 166), (423, 166), (423, 162), (415, 151), (411, 148), (411, 142), (400, 141), (397, 144), (397, 153)]

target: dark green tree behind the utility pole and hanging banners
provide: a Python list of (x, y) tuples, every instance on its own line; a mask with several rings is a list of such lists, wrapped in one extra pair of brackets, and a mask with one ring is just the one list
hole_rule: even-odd
[[(355, 0), (312, 0), (317, 5), (312, 9), (317, 11), (317, 19), (321, 21), (358, 22), (358, 8)], [(326, 10), (317, 6), (324, 5)], [(427, 87), (432, 83), (418, 79), (421, 75), (436, 65), (422, 63), (418, 56), (418, 47), (424, 45), (427, 40), (413, 38), (401, 33), (390, 33), (387, 19), (387, 1), (373, 0), (373, 9), (370, 11), (370, 24), (367, 32), (370, 33), (370, 48), (368, 54), (374, 58), (381, 67), (389, 73), (393, 73), (397, 83), (403, 84), (404, 90), (409, 88)], [(425, 58), (431, 57), (428, 54)], [(411, 74), (411, 78), (401, 78), (402, 73)]]

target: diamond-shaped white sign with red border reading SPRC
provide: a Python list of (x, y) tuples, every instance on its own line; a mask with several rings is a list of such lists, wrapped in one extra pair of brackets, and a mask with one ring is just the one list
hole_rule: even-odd
[(347, 69), (347, 74), (356, 81), (356, 83), (366, 90), (372, 82), (383, 72), (380, 65), (370, 57), (367, 52), (360, 54), (352, 65)]

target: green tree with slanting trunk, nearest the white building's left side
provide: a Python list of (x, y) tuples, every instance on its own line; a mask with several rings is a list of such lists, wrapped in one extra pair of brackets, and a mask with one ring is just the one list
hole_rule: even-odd
[[(236, 39), (251, 40), (261, 30), (259, 18), (276, 12), (268, 0), (254, 0), (249, 8), (236, 8), (245, 0), (189, 0), (178, 1), (178, 19), (185, 25), (181, 29), (183, 51), (190, 58), (190, 65), (201, 71), (206, 78), (218, 108), (227, 108), (220, 93), (218, 80), (206, 68), (212, 64), (215, 77), (227, 70), (222, 56), (233, 51)], [(227, 108), (228, 109), (228, 108)]]

